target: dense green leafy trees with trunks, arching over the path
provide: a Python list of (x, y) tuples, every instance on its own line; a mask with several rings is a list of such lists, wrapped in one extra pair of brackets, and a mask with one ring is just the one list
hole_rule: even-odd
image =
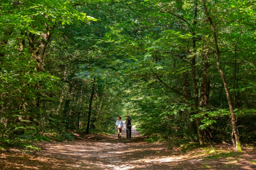
[(157, 139), (240, 150), (256, 138), (255, 4), (1, 1), (1, 143), (111, 133), (130, 113)]

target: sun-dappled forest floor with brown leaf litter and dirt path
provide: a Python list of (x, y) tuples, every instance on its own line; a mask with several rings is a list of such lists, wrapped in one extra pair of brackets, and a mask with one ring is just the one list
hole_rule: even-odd
[(166, 143), (145, 142), (135, 129), (131, 139), (123, 132), (121, 139), (117, 135), (77, 134), (74, 141), (44, 143), (34, 154), (0, 151), (0, 169), (256, 169), (255, 149), (234, 152), (222, 144), (184, 153), (175, 147), (167, 149)]

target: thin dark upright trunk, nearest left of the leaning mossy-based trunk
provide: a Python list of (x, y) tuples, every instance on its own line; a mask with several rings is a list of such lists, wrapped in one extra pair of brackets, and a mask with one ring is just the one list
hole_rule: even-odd
[[(197, 23), (197, 0), (195, 0), (195, 12), (194, 12), (194, 22), (193, 25), (194, 27), (196, 26)], [(193, 44), (193, 50), (195, 52), (196, 49), (196, 37), (195, 37), (195, 31), (194, 28), (192, 29), (192, 44)], [(195, 94), (195, 113), (198, 114), (198, 83), (197, 83), (197, 79), (196, 79), (196, 55), (193, 55), (192, 58), (192, 77), (193, 77), (193, 82), (194, 82), (194, 94)], [(198, 133), (198, 140), (199, 140), (199, 145), (200, 146), (204, 146), (204, 140), (203, 140), (203, 133), (202, 130), (199, 129), (200, 126), (200, 121), (199, 119), (196, 119), (196, 123), (197, 123), (197, 133)]]

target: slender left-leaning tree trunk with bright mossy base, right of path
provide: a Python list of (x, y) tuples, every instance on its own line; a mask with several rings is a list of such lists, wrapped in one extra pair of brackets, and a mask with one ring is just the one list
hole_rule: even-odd
[(238, 134), (238, 131), (237, 131), (237, 125), (236, 125), (236, 115), (234, 114), (234, 111), (233, 111), (231, 97), (230, 97), (229, 89), (228, 89), (228, 84), (227, 84), (226, 78), (224, 76), (224, 73), (222, 71), (221, 64), (219, 62), (220, 51), (219, 51), (219, 47), (218, 47), (218, 41), (217, 41), (215, 26), (214, 26), (214, 24), (212, 22), (212, 19), (211, 19), (210, 15), (207, 11), (207, 7), (205, 6), (204, 0), (202, 0), (202, 3), (203, 3), (203, 8), (204, 8), (204, 13), (205, 13), (210, 25), (211, 25), (212, 32), (213, 32), (214, 45), (215, 45), (215, 49), (216, 49), (216, 63), (217, 63), (217, 68), (218, 68), (219, 74), (221, 74), (221, 78), (222, 78), (222, 81), (223, 81), (223, 84), (224, 84), (224, 87), (225, 87), (225, 91), (226, 91), (229, 110), (230, 110), (230, 114), (231, 114), (232, 129), (233, 129), (233, 133), (234, 133), (234, 136), (235, 136), (235, 139), (236, 139), (236, 150), (241, 151), (242, 149), (241, 149), (240, 137), (239, 137), (239, 134)]

